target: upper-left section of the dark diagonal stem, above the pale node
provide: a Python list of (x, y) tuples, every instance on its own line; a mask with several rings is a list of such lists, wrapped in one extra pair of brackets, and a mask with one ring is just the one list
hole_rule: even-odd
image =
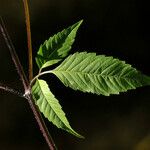
[(8, 32), (6, 30), (6, 27), (4, 25), (4, 21), (3, 21), (2, 17), (0, 17), (0, 20), (1, 20), (0, 30), (2, 32), (2, 35), (3, 35), (4, 39), (5, 39), (6, 45), (8, 46), (8, 49), (10, 51), (12, 60), (13, 60), (13, 62), (15, 64), (17, 72), (18, 72), (18, 74), (19, 74), (19, 76), (21, 78), (21, 81), (23, 83), (24, 90), (26, 92), (28, 90), (28, 86), (29, 86), (28, 80), (27, 80), (26, 75), (25, 75), (25, 73), (23, 71), (22, 65), (21, 65), (21, 63), (19, 61), (19, 58), (17, 56), (16, 50), (14, 48), (14, 45), (13, 45), (13, 43), (12, 43), (12, 41), (11, 41), (9, 35), (8, 35)]

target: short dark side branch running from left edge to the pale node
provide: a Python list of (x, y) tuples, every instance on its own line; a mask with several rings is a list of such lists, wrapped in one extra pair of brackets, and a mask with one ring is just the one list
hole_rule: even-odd
[(19, 96), (19, 97), (24, 97), (24, 94), (23, 94), (23, 93), (20, 93), (20, 92), (18, 92), (18, 91), (16, 91), (16, 90), (14, 90), (14, 89), (12, 89), (12, 88), (6, 86), (6, 85), (0, 84), (0, 90), (9, 92), (9, 93), (14, 94), (14, 95), (17, 95), (17, 96)]

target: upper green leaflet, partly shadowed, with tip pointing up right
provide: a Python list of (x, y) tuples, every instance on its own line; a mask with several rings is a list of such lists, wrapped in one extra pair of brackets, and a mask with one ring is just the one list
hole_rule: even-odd
[[(76, 32), (81, 23), (82, 20), (63, 31), (58, 32), (40, 46), (36, 57), (36, 63), (40, 69), (44, 68), (45, 63), (50, 60), (61, 60), (67, 56), (74, 43)], [(57, 62), (53, 62), (53, 64), (55, 63)], [(50, 63), (49, 65), (53, 64)], [(46, 65), (46, 67), (48, 67), (48, 65)]]

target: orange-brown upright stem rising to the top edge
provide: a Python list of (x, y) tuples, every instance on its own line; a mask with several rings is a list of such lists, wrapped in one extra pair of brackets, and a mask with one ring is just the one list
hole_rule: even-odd
[(29, 81), (31, 81), (33, 78), (33, 64), (32, 64), (32, 40), (31, 40), (30, 14), (29, 14), (28, 0), (23, 0), (23, 4), (24, 4), (25, 19), (26, 19), (26, 30), (27, 30)]

